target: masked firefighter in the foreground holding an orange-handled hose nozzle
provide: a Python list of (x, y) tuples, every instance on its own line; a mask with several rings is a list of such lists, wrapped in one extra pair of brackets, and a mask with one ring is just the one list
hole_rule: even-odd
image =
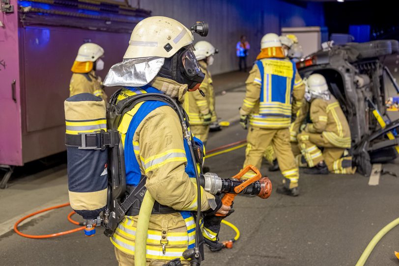
[[(182, 102), (187, 90), (198, 88), (204, 78), (192, 42), (192, 32), (179, 22), (146, 18), (134, 28), (123, 62), (111, 68), (104, 84), (123, 86), (118, 100), (165, 93)], [(176, 112), (163, 102), (146, 101), (123, 116), (118, 131), (124, 143), (128, 190), (145, 175), (147, 192), (156, 200), (148, 227), (147, 265), (163, 265), (175, 258), (190, 265), (182, 253), (194, 246), (195, 234), (200, 234), (195, 232), (191, 213), (197, 210), (197, 166), (188, 158), (191, 155)], [(111, 238), (120, 266), (134, 265), (139, 210), (140, 206), (132, 206)], [(230, 207), (201, 187), (201, 210), (206, 215), (226, 215)]]

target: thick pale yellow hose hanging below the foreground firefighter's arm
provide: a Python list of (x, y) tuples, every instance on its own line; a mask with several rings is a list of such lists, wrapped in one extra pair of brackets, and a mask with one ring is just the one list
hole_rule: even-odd
[(154, 206), (155, 199), (147, 191), (142, 200), (142, 206), (140, 207), (139, 219), (137, 221), (136, 229), (136, 240), (135, 240), (135, 265), (145, 266), (146, 265), (146, 249), (147, 249), (147, 232), (148, 224), (151, 216), (152, 208)]

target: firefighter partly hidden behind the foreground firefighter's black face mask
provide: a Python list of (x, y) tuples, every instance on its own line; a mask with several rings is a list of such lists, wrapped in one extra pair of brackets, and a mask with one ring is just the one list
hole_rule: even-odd
[(199, 41), (194, 48), (194, 54), (199, 62), (200, 69), (205, 73), (205, 78), (199, 86), (199, 90), (204, 96), (201, 95), (199, 90), (187, 93), (183, 107), (190, 118), (191, 132), (205, 145), (208, 139), (209, 124), (212, 122), (212, 116), (214, 115), (212, 110), (214, 111), (213, 97), (215, 97), (208, 66), (213, 64), (213, 56), (217, 53), (217, 50), (207, 41)]

